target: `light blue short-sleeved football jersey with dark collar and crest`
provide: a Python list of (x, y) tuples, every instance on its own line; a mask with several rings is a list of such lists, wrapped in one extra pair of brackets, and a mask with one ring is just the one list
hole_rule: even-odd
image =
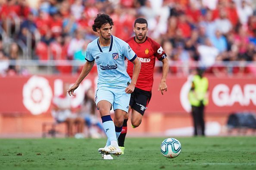
[(125, 57), (134, 61), (137, 55), (128, 43), (116, 36), (111, 36), (107, 47), (100, 47), (99, 38), (88, 44), (85, 60), (95, 60), (97, 64), (98, 88), (104, 85), (127, 86), (131, 78), (126, 72)]

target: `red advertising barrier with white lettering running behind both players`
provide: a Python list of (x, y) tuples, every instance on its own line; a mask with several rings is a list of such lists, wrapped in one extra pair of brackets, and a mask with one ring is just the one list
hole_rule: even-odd
[[(0, 78), (0, 113), (31, 113), (40, 115), (50, 111), (53, 95), (62, 92), (62, 82), (73, 83), (78, 76), (12, 76)], [(206, 112), (230, 113), (239, 110), (255, 111), (256, 79), (255, 78), (209, 78), (209, 106)], [(190, 109), (187, 92), (190, 81), (186, 77), (169, 76), (168, 91), (161, 94), (158, 84), (161, 75), (154, 76), (152, 99), (147, 112), (181, 113)], [(90, 86), (95, 88), (96, 78), (90, 75), (76, 90), (72, 105), (78, 106), (84, 92)]]

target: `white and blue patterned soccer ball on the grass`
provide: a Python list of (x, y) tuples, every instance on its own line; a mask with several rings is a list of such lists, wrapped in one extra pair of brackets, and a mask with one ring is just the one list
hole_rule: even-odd
[(167, 138), (162, 141), (161, 153), (166, 158), (176, 158), (181, 153), (181, 143), (175, 138)]

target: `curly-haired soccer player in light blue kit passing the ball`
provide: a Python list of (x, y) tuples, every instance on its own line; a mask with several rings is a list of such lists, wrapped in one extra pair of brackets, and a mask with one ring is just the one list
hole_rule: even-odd
[[(100, 110), (103, 127), (108, 137), (106, 146), (98, 149), (104, 155), (121, 155), (117, 138), (121, 134), (122, 124), (128, 112), (131, 93), (134, 91), (140, 73), (140, 61), (122, 39), (112, 36), (112, 18), (107, 14), (98, 14), (92, 29), (99, 33), (99, 38), (89, 43), (85, 60), (87, 62), (75, 84), (67, 91), (69, 96), (75, 95), (82, 80), (91, 71), (94, 62), (97, 64), (98, 84), (95, 101)], [(125, 68), (125, 57), (134, 64), (132, 79)], [(110, 110), (115, 111), (114, 121), (110, 117)], [(111, 157), (111, 156), (110, 156)], [(109, 159), (112, 159), (112, 157)]]

